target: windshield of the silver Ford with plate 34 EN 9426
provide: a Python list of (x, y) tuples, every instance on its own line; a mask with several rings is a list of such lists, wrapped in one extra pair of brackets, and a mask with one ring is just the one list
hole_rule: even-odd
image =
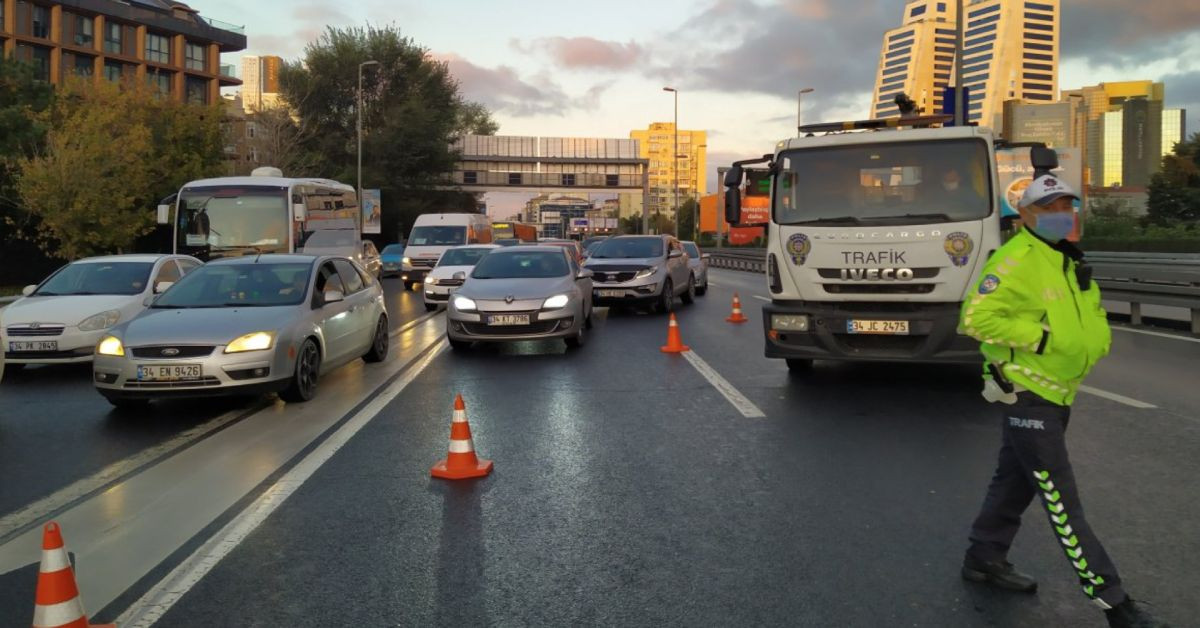
[(200, 267), (155, 300), (155, 309), (270, 307), (304, 301), (312, 264), (239, 263)]

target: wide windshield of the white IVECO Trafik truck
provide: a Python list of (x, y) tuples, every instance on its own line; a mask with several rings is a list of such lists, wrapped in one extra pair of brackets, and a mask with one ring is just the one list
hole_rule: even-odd
[(982, 140), (802, 149), (781, 154), (779, 165), (779, 225), (928, 225), (991, 214)]

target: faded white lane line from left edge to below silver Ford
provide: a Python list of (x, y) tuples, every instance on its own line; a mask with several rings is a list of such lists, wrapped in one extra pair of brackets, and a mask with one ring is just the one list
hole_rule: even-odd
[[(250, 414), (256, 412), (257, 405), (250, 408), (239, 408), (234, 411), (226, 412), (220, 417), (211, 419), (206, 423), (202, 423), (191, 430), (180, 432), (174, 438), (158, 443), (149, 449), (144, 449), (138, 454), (134, 454), (125, 460), (113, 462), (112, 465), (100, 469), (95, 474), (83, 478), (72, 483), (71, 485), (55, 491), (52, 495), (42, 497), (41, 500), (25, 506), (19, 510), (14, 510), (2, 518), (0, 518), (0, 539), (8, 537), (10, 534), (28, 527), (29, 525), (41, 521), (59, 509), (66, 507), (71, 502), (100, 490), (106, 484), (109, 484), (118, 478), (121, 478), (138, 468), (157, 460), (158, 457), (174, 451), (176, 449), (182, 449), (192, 441), (197, 441), (204, 436), (208, 436), (215, 430), (221, 429), (227, 423), (241, 417), (244, 414)], [(260, 408), (259, 408), (260, 409)]]

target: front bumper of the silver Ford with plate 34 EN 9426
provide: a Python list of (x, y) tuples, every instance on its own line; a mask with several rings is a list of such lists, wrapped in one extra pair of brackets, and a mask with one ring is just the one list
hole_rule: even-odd
[[(223, 395), (252, 395), (287, 388), (292, 365), (286, 349), (275, 347), (262, 352), (212, 353), (196, 358), (148, 359), (132, 354), (125, 357), (96, 355), (92, 363), (92, 384), (107, 397), (172, 399)], [(139, 378), (138, 366), (199, 365), (199, 379), (148, 381)]]

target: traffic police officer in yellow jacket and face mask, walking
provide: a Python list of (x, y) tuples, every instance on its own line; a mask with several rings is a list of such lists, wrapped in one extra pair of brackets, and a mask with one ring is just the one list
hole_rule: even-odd
[(962, 578), (1033, 592), (1037, 581), (1007, 562), (1021, 514), (1037, 498), (1079, 578), (1110, 626), (1157, 627), (1134, 603), (1084, 516), (1066, 431), (1079, 384), (1108, 354), (1111, 331), (1084, 253), (1067, 241), (1074, 191), (1051, 174), (1025, 190), (1024, 228), (1000, 247), (962, 305), (961, 324), (983, 343), (984, 396), (1000, 402), (1003, 443)]

